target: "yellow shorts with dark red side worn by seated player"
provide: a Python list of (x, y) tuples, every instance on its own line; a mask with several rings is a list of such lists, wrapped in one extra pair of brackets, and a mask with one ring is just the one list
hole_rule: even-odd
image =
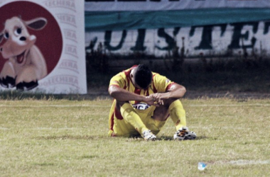
[[(112, 106), (113, 107), (113, 106)], [(142, 122), (144, 122), (144, 125), (153, 132), (153, 134), (158, 134), (160, 132), (163, 125), (166, 123), (166, 121), (160, 121), (160, 120), (154, 120), (152, 118), (153, 111), (156, 109), (155, 106), (150, 106), (146, 110), (138, 110), (134, 108), (136, 113), (141, 118)], [(111, 109), (112, 111), (112, 109)], [(135, 128), (129, 124), (129, 122), (126, 122), (119, 113), (116, 113), (118, 110), (114, 109), (114, 113), (111, 114), (109, 118), (109, 136), (139, 136), (139, 132), (135, 130)], [(118, 111), (119, 112), (119, 111)], [(120, 118), (121, 117), (121, 118)]]

